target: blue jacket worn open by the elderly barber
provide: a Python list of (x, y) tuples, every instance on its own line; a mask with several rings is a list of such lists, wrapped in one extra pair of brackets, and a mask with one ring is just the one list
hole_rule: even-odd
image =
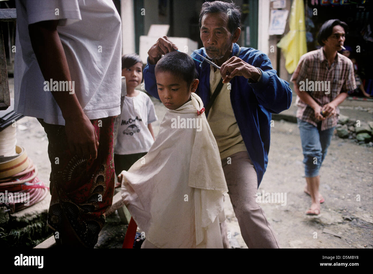
[[(239, 45), (233, 44), (231, 57), (236, 55), (238, 50)], [(196, 52), (206, 56), (205, 49), (200, 48), (191, 54), (197, 60), (201, 58)], [(233, 77), (230, 81), (233, 113), (257, 172), (259, 187), (268, 162), (271, 113), (279, 113), (290, 107), (292, 91), (289, 83), (276, 75), (271, 61), (263, 52), (242, 47), (238, 57), (260, 68), (262, 73), (257, 83), (249, 83), (248, 79), (243, 76)], [(200, 80), (196, 93), (201, 97), (204, 106), (207, 106), (210, 99), (210, 64), (206, 61), (202, 64), (194, 62)], [(147, 92), (159, 99), (154, 68), (155, 65), (149, 63), (144, 68), (145, 88)]]

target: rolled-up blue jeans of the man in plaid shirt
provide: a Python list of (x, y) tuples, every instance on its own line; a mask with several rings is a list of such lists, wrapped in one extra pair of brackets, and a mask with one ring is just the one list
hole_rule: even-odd
[(297, 121), (302, 141), (305, 176), (318, 176), (321, 164), (325, 159), (330, 140), (332, 140), (335, 127), (322, 131), (320, 130), (321, 123), (315, 127), (313, 124), (298, 118)]

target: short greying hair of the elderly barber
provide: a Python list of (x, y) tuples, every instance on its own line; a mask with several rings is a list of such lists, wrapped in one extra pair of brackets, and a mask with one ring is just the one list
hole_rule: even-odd
[(206, 13), (219, 13), (223, 12), (228, 15), (228, 29), (231, 34), (239, 28), (241, 24), (241, 12), (239, 10), (239, 6), (236, 6), (233, 1), (231, 3), (223, 2), (223, 1), (213, 1), (213, 2), (205, 2), (202, 4), (201, 12), (200, 12), (200, 21), (199, 25), (200, 28), (202, 26), (202, 17)]

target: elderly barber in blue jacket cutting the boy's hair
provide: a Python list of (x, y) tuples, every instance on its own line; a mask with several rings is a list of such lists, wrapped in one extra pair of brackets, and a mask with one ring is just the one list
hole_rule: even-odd
[[(276, 75), (266, 54), (236, 44), (241, 13), (234, 3), (205, 2), (199, 20), (204, 47), (191, 56), (202, 60), (198, 52), (220, 70), (206, 61), (195, 61), (200, 80), (197, 94), (219, 147), (242, 237), (249, 248), (279, 248), (276, 234), (256, 202), (256, 193), (268, 162), (271, 113), (289, 108), (291, 89)], [(145, 86), (156, 98), (155, 64), (161, 55), (174, 50), (176, 45), (164, 36), (148, 51)], [(225, 223), (221, 230), (228, 248)]]

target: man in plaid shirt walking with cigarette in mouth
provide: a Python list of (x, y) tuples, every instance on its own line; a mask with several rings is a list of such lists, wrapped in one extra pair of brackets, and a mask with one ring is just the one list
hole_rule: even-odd
[(342, 50), (347, 24), (338, 19), (326, 21), (320, 28), (318, 42), (323, 47), (304, 54), (291, 81), (297, 93), (297, 120), (302, 141), (307, 185), (311, 207), (306, 212), (320, 214), (320, 166), (338, 122), (338, 105), (347, 92), (356, 89), (354, 69)]

